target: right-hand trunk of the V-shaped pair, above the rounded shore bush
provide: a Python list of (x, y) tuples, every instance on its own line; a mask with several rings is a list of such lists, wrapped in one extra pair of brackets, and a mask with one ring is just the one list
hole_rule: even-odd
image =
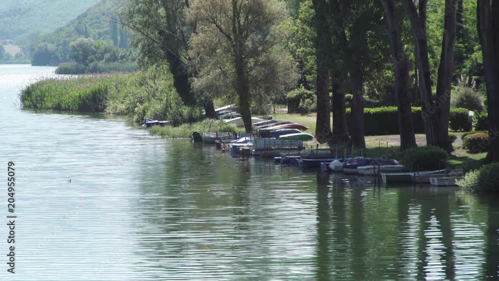
[(449, 142), (449, 114), (451, 111), (451, 90), (455, 70), (456, 48), (456, 0), (445, 1), (444, 37), (438, 69), (435, 145), (452, 151)]

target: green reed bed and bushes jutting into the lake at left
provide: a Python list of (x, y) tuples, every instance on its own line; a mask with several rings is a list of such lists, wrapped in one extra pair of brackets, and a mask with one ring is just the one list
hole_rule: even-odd
[(202, 117), (201, 108), (183, 105), (167, 66), (133, 74), (46, 79), (23, 89), (20, 100), (25, 108), (107, 112), (174, 125)]

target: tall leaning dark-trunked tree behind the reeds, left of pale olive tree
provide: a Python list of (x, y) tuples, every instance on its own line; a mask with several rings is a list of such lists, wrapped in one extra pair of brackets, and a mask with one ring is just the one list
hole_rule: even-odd
[[(133, 32), (132, 45), (140, 50), (143, 64), (168, 62), (174, 85), (184, 104), (196, 98), (188, 65), (189, 41), (196, 30), (196, 22), (187, 20), (189, 0), (130, 0), (119, 18), (113, 18)], [(213, 100), (204, 98), (207, 117), (215, 117)]]

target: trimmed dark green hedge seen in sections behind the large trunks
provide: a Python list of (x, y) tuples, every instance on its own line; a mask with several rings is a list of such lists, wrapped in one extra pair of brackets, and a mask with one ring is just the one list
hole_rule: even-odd
[[(449, 116), (451, 130), (465, 130), (472, 128), (472, 119), (468, 115), (469, 110), (465, 108), (453, 108)], [(350, 108), (346, 110), (347, 122), (351, 128)], [(423, 134), (425, 127), (421, 107), (412, 107), (412, 120), (416, 134)], [(452, 123), (451, 123), (452, 121)], [(398, 109), (396, 106), (364, 108), (364, 134), (366, 136), (375, 135), (396, 135), (399, 134)]]

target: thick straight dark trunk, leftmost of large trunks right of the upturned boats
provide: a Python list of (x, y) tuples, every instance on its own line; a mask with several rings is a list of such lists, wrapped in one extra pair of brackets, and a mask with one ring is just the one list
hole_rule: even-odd
[(313, 0), (315, 9), (315, 41), (317, 58), (317, 119), (315, 138), (319, 143), (326, 143), (331, 137), (331, 103), (329, 98), (329, 58), (331, 51), (331, 30), (327, 24), (328, 9), (325, 0)]

